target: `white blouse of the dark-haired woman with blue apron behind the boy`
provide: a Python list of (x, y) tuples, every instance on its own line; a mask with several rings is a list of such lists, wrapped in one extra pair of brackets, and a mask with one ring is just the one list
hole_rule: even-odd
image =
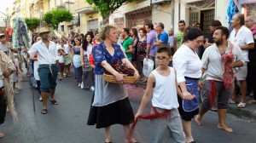
[(185, 77), (201, 77), (202, 62), (196, 52), (185, 44), (173, 55), (173, 67), (177, 71), (177, 83), (185, 82)]

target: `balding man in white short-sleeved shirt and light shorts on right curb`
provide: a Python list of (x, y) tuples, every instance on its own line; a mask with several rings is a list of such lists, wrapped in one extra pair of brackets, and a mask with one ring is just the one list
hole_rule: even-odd
[[(241, 101), (238, 104), (238, 108), (244, 108), (246, 106), (246, 94), (247, 94), (247, 62), (248, 50), (254, 48), (253, 33), (246, 26), (244, 26), (243, 14), (235, 14), (231, 20), (231, 26), (234, 28), (230, 33), (230, 42), (240, 47), (244, 65), (236, 68), (236, 81), (240, 82), (241, 85)], [(230, 103), (236, 103), (236, 86), (230, 100)]]

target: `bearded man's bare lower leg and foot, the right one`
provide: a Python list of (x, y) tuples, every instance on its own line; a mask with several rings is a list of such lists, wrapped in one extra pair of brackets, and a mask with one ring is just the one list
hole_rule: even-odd
[(218, 109), (218, 128), (224, 129), (227, 132), (232, 133), (233, 129), (230, 129), (225, 124), (226, 122), (227, 109)]

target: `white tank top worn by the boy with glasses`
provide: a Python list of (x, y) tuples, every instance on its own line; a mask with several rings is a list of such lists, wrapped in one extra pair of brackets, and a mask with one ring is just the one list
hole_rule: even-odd
[(176, 78), (173, 68), (170, 67), (170, 74), (167, 77), (160, 75), (155, 70), (152, 73), (155, 77), (152, 106), (166, 110), (177, 108), (179, 105), (177, 102)]

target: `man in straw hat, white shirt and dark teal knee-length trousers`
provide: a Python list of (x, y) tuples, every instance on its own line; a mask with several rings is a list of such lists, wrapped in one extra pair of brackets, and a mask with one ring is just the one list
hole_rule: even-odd
[(43, 100), (43, 110), (41, 113), (46, 114), (48, 112), (46, 96), (48, 91), (49, 101), (53, 105), (58, 105), (54, 95), (59, 60), (57, 60), (58, 52), (55, 48), (55, 43), (49, 41), (49, 27), (40, 27), (38, 34), (42, 37), (42, 40), (38, 43), (34, 43), (28, 53), (31, 58), (34, 54), (38, 53), (38, 75), (40, 77), (41, 97)]

